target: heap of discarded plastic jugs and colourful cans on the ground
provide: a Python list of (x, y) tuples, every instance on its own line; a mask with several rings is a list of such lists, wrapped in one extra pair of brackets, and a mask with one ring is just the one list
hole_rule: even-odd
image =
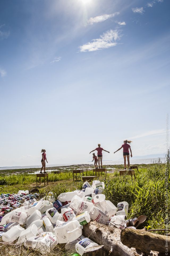
[[(128, 221), (128, 203), (120, 202), (117, 207), (105, 200), (104, 182), (84, 182), (82, 190), (58, 195), (52, 192), (36, 201), (38, 194), (19, 191), (18, 194), (1, 194), (0, 200), (12, 211), (4, 211), (0, 222), (3, 242), (14, 242), (26, 248), (50, 252), (58, 243), (66, 243), (65, 249), (83, 255), (97, 243), (82, 236), (83, 226), (91, 220), (125, 228)], [(1, 204), (0, 201), (0, 204)], [(16, 203), (15, 203), (16, 202)], [(14, 204), (13, 204), (14, 203)], [(18, 204), (18, 208), (14, 209)], [(6, 209), (6, 210), (8, 210)], [(1, 208), (2, 212), (4, 208)], [(5, 214), (6, 213), (6, 214)]]

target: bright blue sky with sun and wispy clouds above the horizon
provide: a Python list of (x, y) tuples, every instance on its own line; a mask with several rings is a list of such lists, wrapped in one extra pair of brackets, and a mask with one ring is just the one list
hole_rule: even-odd
[[(165, 153), (170, 1), (1, 0), (0, 166)], [(97, 151), (96, 151), (97, 153)]]

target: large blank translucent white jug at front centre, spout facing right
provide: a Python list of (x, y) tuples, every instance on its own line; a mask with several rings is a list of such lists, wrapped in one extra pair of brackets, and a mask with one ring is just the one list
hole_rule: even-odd
[(56, 237), (58, 238), (59, 243), (67, 243), (68, 241), (72, 242), (80, 235), (82, 235), (83, 226), (80, 223), (75, 221), (68, 221), (58, 225), (55, 229)]

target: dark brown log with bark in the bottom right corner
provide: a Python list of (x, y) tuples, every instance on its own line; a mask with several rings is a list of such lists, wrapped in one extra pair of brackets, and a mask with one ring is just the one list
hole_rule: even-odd
[(170, 237), (151, 233), (146, 228), (123, 229), (120, 238), (124, 245), (129, 248), (135, 247), (145, 253), (150, 253), (151, 250), (165, 253), (166, 248), (170, 247)]

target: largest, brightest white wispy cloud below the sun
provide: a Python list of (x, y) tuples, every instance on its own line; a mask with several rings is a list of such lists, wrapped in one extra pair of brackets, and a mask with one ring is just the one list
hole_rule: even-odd
[(93, 39), (91, 42), (88, 42), (82, 46), (79, 46), (81, 52), (85, 51), (97, 51), (112, 46), (116, 46), (116, 40), (121, 38), (120, 32), (118, 30), (108, 30), (103, 35), (100, 35), (100, 38)]

